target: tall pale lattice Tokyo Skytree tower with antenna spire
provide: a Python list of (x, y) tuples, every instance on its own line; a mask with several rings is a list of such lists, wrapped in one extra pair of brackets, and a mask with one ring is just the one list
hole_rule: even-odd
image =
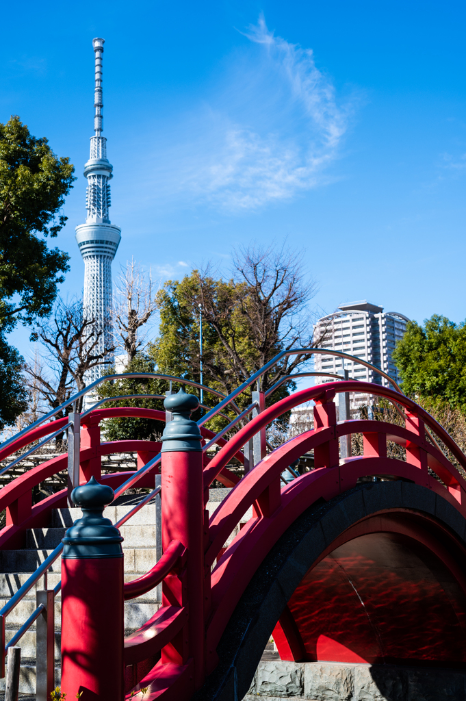
[[(103, 353), (112, 344), (111, 336), (111, 261), (121, 239), (119, 226), (110, 223), (110, 184), (113, 166), (107, 160), (107, 139), (102, 136), (102, 54), (104, 39), (93, 39), (95, 51), (94, 131), (90, 137), (90, 158), (84, 166), (88, 179), (85, 224), (76, 226), (76, 241), (84, 261), (84, 314), (95, 319), (95, 329), (103, 330), (95, 352)], [(86, 374), (90, 384), (102, 374), (102, 365)]]

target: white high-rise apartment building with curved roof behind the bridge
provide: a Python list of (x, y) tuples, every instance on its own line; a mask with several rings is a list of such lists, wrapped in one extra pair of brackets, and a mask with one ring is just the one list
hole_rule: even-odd
[[(356, 358), (366, 360), (399, 382), (397, 368), (392, 361), (395, 343), (402, 339), (409, 319), (399, 312), (384, 312), (383, 307), (371, 304), (366, 299), (340, 304), (338, 311), (324, 316), (315, 325), (315, 338), (324, 337), (323, 348), (343, 351)], [(333, 355), (315, 355), (314, 367), (317, 372), (341, 373), (344, 367), (350, 379), (388, 385), (388, 380), (379, 374), (358, 365), (357, 362), (336, 358)], [(327, 382), (325, 377), (316, 377), (316, 383)], [(366, 398), (356, 395), (354, 407), (365, 403)]]

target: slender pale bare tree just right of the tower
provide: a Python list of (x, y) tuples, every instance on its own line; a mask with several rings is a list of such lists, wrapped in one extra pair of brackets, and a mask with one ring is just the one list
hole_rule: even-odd
[(136, 353), (144, 349), (146, 325), (157, 304), (153, 290), (151, 271), (135, 263), (134, 259), (121, 266), (121, 274), (115, 285), (113, 321), (116, 348), (127, 355), (127, 365), (134, 360)]

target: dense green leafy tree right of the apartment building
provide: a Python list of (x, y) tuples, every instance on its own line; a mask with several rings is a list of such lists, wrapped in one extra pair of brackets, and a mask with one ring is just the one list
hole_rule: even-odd
[(446, 402), (466, 411), (466, 325), (434, 314), (409, 322), (393, 359), (406, 394)]

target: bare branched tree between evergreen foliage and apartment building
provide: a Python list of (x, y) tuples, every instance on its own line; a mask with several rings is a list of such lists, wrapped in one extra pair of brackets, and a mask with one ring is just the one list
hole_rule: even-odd
[[(251, 245), (236, 250), (233, 288), (230, 286), (223, 297), (210, 284), (208, 267), (198, 273), (198, 286), (203, 318), (217, 332), (238, 383), (249, 377), (251, 360), (259, 369), (280, 351), (317, 348), (324, 341), (325, 334), (313, 337), (308, 308), (316, 292), (315, 282), (306, 276), (303, 253), (286, 245)], [(238, 333), (238, 311), (247, 326), (254, 359), (250, 355), (245, 358), (243, 334)], [(263, 390), (292, 374), (307, 359), (304, 353), (285, 357), (263, 376)], [(214, 373), (214, 367), (211, 372)]]

